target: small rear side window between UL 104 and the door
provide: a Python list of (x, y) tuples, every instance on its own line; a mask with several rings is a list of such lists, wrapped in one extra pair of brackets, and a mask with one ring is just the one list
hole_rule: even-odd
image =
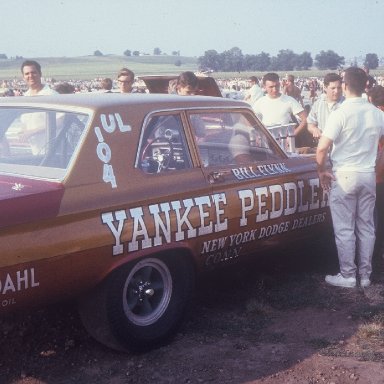
[(144, 127), (138, 167), (145, 173), (162, 173), (191, 167), (179, 115), (156, 115)]

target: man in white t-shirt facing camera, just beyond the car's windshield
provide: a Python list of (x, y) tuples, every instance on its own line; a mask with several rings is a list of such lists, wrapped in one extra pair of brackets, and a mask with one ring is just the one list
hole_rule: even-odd
[(267, 127), (295, 122), (295, 116), (297, 116), (298, 125), (294, 132), (297, 136), (306, 128), (307, 114), (304, 108), (293, 97), (280, 92), (280, 79), (277, 73), (271, 72), (264, 75), (263, 85), (266, 95), (253, 105), (256, 116)]

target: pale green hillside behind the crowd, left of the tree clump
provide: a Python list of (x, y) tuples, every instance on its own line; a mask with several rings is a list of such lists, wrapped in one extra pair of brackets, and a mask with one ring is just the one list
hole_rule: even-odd
[[(24, 60), (0, 60), (0, 80), (20, 77), (20, 66)], [(34, 60), (41, 64), (43, 77), (57, 80), (115, 78), (122, 67), (128, 67), (137, 75), (180, 73), (198, 69), (195, 57), (168, 55), (42, 57)], [(181, 62), (180, 66), (175, 65), (178, 61)]]

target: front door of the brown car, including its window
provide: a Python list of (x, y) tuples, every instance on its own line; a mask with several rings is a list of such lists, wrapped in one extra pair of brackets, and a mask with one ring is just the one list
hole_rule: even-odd
[[(300, 220), (325, 221), (327, 201), (312, 159), (290, 158), (247, 109), (189, 113), (202, 170), (220, 196), (222, 231), (203, 244), (207, 267), (292, 239)], [(311, 224), (312, 225), (312, 224)], [(305, 225), (302, 223), (301, 228)]]

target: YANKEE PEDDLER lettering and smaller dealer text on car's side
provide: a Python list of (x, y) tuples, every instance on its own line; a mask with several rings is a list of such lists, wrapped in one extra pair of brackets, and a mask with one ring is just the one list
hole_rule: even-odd
[[(227, 231), (229, 217), (238, 218), (239, 228), (252, 228), (205, 242), (201, 254), (207, 255), (207, 263), (208, 260), (213, 263), (237, 258), (244, 243), (323, 222), (325, 212), (312, 214), (311, 211), (328, 206), (328, 193), (320, 188), (319, 179), (314, 178), (240, 189), (237, 200), (237, 205), (231, 200), (231, 216), (223, 192), (104, 212), (101, 222), (113, 236), (114, 256)], [(239, 207), (238, 214), (233, 213), (234, 206)], [(293, 214), (303, 217), (289, 218)], [(282, 222), (262, 226), (273, 219)]]

